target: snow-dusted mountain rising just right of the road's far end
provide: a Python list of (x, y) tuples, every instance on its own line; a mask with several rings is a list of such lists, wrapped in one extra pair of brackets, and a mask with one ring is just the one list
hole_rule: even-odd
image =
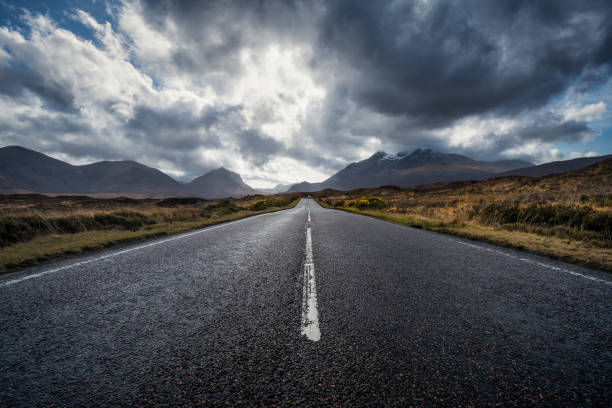
[(483, 180), (496, 173), (526, 166), (532, 164), (521, 160), (477, 161), (430, 149), (396, 155), (377, 152), (365, 160), (349, 164), (322, 183), (303, 182), (292, 186), (289, 191), (319, 191), (326, 188), (352, 190), (382, 185), (410, 187), (437, 182)]

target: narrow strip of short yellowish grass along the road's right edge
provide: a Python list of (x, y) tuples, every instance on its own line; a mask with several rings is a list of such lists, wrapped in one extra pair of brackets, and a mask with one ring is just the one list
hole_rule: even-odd
[(325, 203), (323, 200), (319, 199), (317, 201), (323, 207), (330, 209), (339, 209), (395, 224), (490, 242), (503, 247), (520, 249), (553, 259), (612, 272), (612, 250), (593, 245), (588, 241), (562, 239), (522, 231), (508, 231), (471, 222), (445, 223), (433, 218), (385, 210), (360, 210), (354, 207), (338, 208)]

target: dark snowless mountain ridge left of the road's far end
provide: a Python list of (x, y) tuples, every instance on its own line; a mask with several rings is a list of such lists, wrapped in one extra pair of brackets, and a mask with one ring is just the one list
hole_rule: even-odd
[(135, 161), (102, 161), (74, 166), (20, 146), (0, 148), (0, 192), (204, 198), (256, 194), (239, 174), (223, 167), (183, 184)]

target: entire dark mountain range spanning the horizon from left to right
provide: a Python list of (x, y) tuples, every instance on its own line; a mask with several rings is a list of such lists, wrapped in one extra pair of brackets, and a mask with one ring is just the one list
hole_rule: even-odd
[(255, 190), (239, 174), (220, 167), (180, 183), (135, 161), (101, 161), (75, 166), (20, 146), (0, 148), (1, 193), (126, 195), (144, 197), (242, 197), (257, 193), (312, 192), (326, 188), (353, 190), (396, 185), (483, 180), (503, 176), (539, 177), (587, 167), (612, 155), (557, 161), (534, 166), (521, 160), (478, 161), (458, 154), (417, 149), (412, 153), (376, 152), (351, 163), (321, 183), (278, 184)]

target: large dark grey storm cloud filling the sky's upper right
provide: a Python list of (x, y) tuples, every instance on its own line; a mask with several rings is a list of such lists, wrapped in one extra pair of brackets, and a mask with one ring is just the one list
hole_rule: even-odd
[(321, 55), (356, 70), (341, 82), (359, 104), (438, 127), (538, 108), (602, 66), (596, 84), (609, 78), (607, 1), (419, 4), (329, 3)]

